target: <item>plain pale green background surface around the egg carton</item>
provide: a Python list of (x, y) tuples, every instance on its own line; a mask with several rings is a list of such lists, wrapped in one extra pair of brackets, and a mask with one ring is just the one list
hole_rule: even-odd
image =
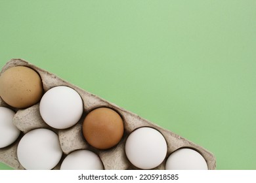
[(217, 169), (256, 169), (255, 7), (0, 0), (0, 67), (26, 59), (203, 146)]

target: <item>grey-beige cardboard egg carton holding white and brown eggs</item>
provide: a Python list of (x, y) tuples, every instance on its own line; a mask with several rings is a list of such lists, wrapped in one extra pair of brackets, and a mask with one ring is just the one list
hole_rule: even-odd
[[(165, 169), (165, 161), (168, 158), (168, 156), (174, 152), (175, 150), (179, 148), (193, 148), (194, 150), (197, 150), (202, 154), (203, 158), (205, 158), (205, 161), (207, 163), (208, 169), (212, 170), (216, 167), (216, 160), (215, 156), (211, 154), (208, 150), (205, 150), (202, 146), (198, 146), (197, 144), (194, 144), (194, 142), (188, 141), (187, 139), (184, 139), (183, 137), (173, 133), (172, 131), (169, 131), (167, 129), (163, 129), (159, 125), (156, 125), (148, 120), (145, 120), (138, 116), (137, 114), (133, 114), (133, 112), (127, 111), (124, 108), (118, 107), (117, 105), (110, 103), (109, 101), (106, 101), (96, 95), (93, 95), (92, 93), (86, 92), (85, 90), (82, 90), (81, 88), (74, 86), (74, 84), (70, 84), (69, 82), (62, 80), (61, 78), (58, 78), (58, 76), (53, 75), (52, 73), (49, 73), (43, 69), (40, 69), (39, 67), (36, 67), (35, 65), (32, 65), (31, 63), (28, 63), (27, 61), (24, 61), (23, 59), (11, 59), (9, 62), (6, 63), (6, 65), (1, 70), (1, 73), (5, 72), (7, 69), (14, 67), (14, 66), (26, 66), (30, 67), (33, 70), (37, 71), (39, 75), (41, 76), (41, 79), (43, 81), (43, 90), (44, 92), (47, 92), (47, 90), (53, 88), (54, 86), (69, 86), (70, 88), (73, 88), (76, 90), (81, 98), (83, 99), (83, 107), (84, 107), (84, 114), (75, 124), (74, 126), (68, 128), (68, 129), (54, 129), (53, 127), (50, 127), (47, 125), (43, 119), (41, 118), (41, 115), (39, 113), (39, 103), (33, 105), (29, 108), (24, 109), (18, 109), (18, 108), (12, 108), (9, 105), (7, 105), (0, 97), (0, 106), (2, 107), (8, 107), (11, 108), (16, 112), (13, 123), (22, 131), (20, 137), (12, 143), (10, 146), (7, 146), (5, 148), (0, 148), (0, 161), (5, 163), (6, 165), (9, 165), (13, 169), (24, 169), (22, 165), (20, 165), (18, 158), (17, 158), (17, 147), (18, 142), (22, 138), (22, 136), (25, 133), (28, 133), (28, 131), (31, 131), (32, 129), (36, 128), (47, 128), (54, 131), (56, 134), (58, 134), (59, 140), (60, 140), (60, 146), (63, 151), (62, 159), (60, 160), (60, 163), (54, 167), (54, 169), (60, 169), (60, 164), (62, 163), (62, 160), (74, 150), (81, 150), (81, 149), (87, 149), (95, 152), (98, 154), (100, 159), (102, 160), (102, 163), (104, 165), (104, 169), (138, 169), (137, 167), (133, 166), (129, 160), (127, 159), (125, 155), (125, 141), (128, 137), (128, 135), (135, 129), (139, 127), (153, 127), (161, 132), (163, 137), (165, 137), (165, 140), (167, 142), (167, 155), (163, 163), (156, 167), (155, 169)], [(110, 107), (119, 112), (121, 117), (123, 118), (123, 123), (125, 127), (125, 132), (123, 135), (123, 138), (121, 141), (117, 144), (117, 146), (114, 146), (113, 148), (110, 148), (108, 150), (97, 150), (96, 148), (93, 148), (90, 146), (84, 139), (83, 133), (82, 133), (82, 123), (83, 119), (85, 118), (86, 114), (97, 107)]]

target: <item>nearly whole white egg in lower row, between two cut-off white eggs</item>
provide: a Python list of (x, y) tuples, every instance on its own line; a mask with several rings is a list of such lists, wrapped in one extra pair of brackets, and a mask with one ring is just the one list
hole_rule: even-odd
[(53, 169), (62, 157), (58, 135), (42, 128), (29, 131), (18, 143), (17, 156), (25, 169)]

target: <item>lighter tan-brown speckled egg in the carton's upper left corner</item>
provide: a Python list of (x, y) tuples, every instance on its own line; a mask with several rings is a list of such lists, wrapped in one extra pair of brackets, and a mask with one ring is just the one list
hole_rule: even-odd
[(37, 103), (42, 95), (41, 77), (29, 67), (11, 67), (0, 76), (0, 96), (12, 107), (30, 107)]

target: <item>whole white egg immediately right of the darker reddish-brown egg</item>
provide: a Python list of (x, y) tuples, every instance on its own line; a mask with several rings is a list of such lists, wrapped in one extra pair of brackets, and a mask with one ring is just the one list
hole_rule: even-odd
[(153, 169), (165, 159), (167, 144), (158, 130), (152, 127), (140, 127), (127, 138), (125, 153), (136, 167)]

